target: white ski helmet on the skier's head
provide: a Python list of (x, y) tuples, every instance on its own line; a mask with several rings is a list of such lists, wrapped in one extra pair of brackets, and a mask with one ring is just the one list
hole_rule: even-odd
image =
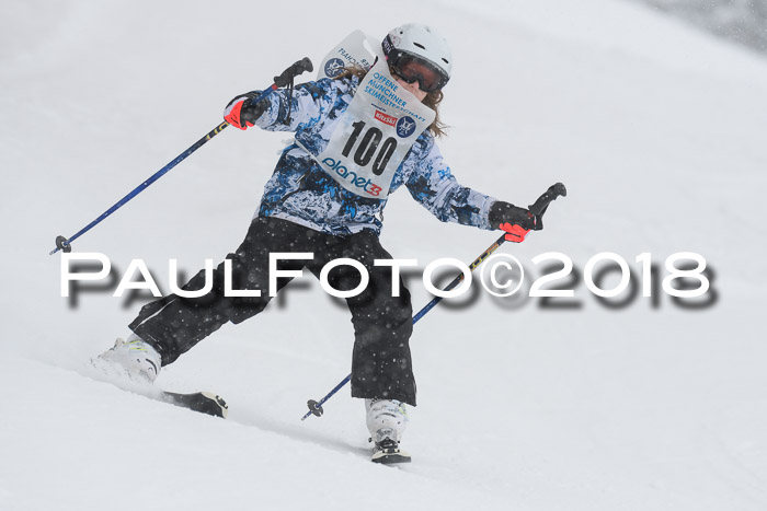
[[(435, 84), (433, 90), (442, 89), (450, 79), (453, 53), (447, 39), (430, 26), (420, 23), (398, 26), (387, 34), (381, 47), (389, 65), (393, 68), (402, 65), (402, 59), (407, 57), (433, 68), (439, 74), (439, 83)], [(422, 86), (422, 90), (425, 89)]]

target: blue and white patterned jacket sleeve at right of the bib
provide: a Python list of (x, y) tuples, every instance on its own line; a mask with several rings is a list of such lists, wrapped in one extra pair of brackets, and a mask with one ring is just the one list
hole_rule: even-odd
[(443, 222), (496, 229), (490, 224), (488, 213), (497, 199), (458, 184), (431, 137), (430, 142), (426, 155), (405, 182), (410, 195)]

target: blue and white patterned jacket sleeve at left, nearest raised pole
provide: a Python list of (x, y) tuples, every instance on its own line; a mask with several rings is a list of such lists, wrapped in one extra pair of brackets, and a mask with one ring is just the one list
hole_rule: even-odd
[(298, 131), (317, 123), (350, 88), (347, 80), (322, 79), (296, 85), (291, 98), (286, 89), (277, 89), (266, 96), (268, 107), (255, 125), (268, 131)]

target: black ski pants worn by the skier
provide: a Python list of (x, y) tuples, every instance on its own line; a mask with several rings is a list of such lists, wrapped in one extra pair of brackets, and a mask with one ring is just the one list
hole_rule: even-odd
[[(268, 294), (270, 253), (311, 252), (313, 259), (287, 259), (277, 263), (278, 270), (308, 268), (319, 278), (322, 267), (336, 258), (362, 263), (369, 275), (366, 289), (347, 298), (354, 325), (352, 355), (352, 396), (398, 399), (415, 405), (415, 380), (410, 355), (413, 329), (410, 293), (400, 279), (400, 297), (392, 297), (391, 268), (374, 266), (375, 259), (391, 259), (376, 233), (364, 230), (347, 236), (334, 236), (274, 218), (255, 218), (248, 235), (231, 260), (234, 290), (261, 290), (259, 298), (225, 295), (225, 270), (221, 263), (213, 271), (213, 289), (201, 298), (170, 294), (145, 305), (129, 328), (152, 345), (162, 357), (162, 364), (175, 361), (197, 342), (225, 323), (241, 323), (264, 310)], [(182, 289), (205, 287), (201, 270)], [(277, 290), (291, 279), (278, 278)], [(328, 283), (339, 291), (355, 289), (359, 271), (342, 265), (328, 275)], [(311, 336), (311, 332), (307, 332)]]

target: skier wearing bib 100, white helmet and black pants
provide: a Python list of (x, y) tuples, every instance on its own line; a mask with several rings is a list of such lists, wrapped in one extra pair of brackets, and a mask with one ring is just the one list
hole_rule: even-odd
[[(391, 259), (378, 237), (388, 194), (404, 185), (440, 221), (501, 229), (512, 242), (524, 241), (537, 227), (527, 209), (459, 185), (443, 160), (435, 137), (444, 135), (438, 107), (453, 67), (445, 38), (428, 26), (405, 24), (392, 30), (376, 53), (379, 58), (367, 71), (347, 68), (334, 79), (276, 90), (257, 103), (257, 93), (243, 94), (225, 109), (225, 119), (242, 130), (257, 126), (296, 133), (266, 183), (244, 241), (227, 256), (229, 289), (257, 289), (262, 295), (227, 297), (221, 263), (213, 288), (201, 298), (171, 294), (145, 305), (130, 323), (127, 340), (118, 339), (101, 360), (133, 379), (153, 382), (161, 367), (224, 324), (241, 323), (264, 310), (271, 300), (270, 253), (313, 253), (311, 260), (281, 260), (277, 268), (308, 268), (318, 277), (327, 263), (352, 258), (369, 275), (365, 290), (346, 299), (355, 335), (352, 396), (365, 399), (373, 461), (410, 461), (399, 450), (405, 405), (415, 406), (410, 293), (400, 279), (394, 297), (391, 270), (374, 266), (375, 259)], [(363, 91), (405, 105), (408, 114), (394, 123), (394, 116), (362, 97)], [(375, 131), (368, 128), (370, 119), (376, 119)], [(277, 279), (277, 289), (289, 280)], [(360, 274), (339, 266), (328, 280), (336, 290), (352, 290)], [(202, 290), (205, 284), (205, 271), (199, 271), (183, 289)]]

